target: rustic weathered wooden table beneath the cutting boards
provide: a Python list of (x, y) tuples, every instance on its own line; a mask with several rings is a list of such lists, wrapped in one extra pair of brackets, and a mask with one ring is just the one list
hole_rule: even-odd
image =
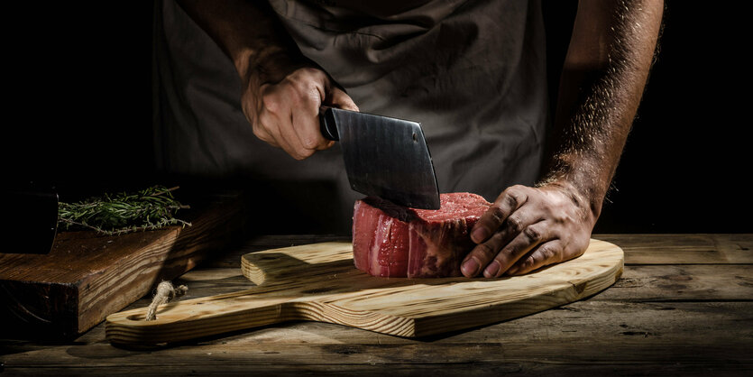
[[(294, 322), (157, 349), (125, 349), (110, 345), (100, 324), (71, 342), (0, 340), (0, 373), (753, 373), (753, 234), (594, 238), (625, 251), (625, 271), (615, 285), (589, 299), (491, 326), (414, 340)], [(177, 282), (188, 285), (186, 298), (243, 290), (251, 284), (239, 268), (243, 253), (335, 239), (254, 238)]]

